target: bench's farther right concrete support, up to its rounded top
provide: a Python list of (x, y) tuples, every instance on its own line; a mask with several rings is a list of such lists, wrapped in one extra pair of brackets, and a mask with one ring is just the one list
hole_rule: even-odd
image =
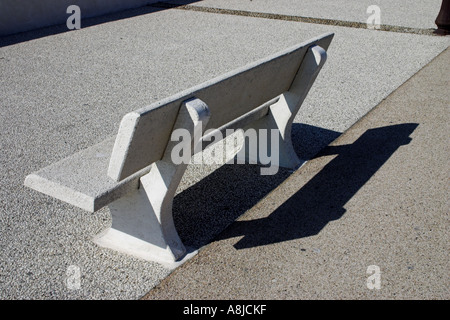
[[(261, 174), (275, 174), (274, 167), (296, 169), (305, 161), (300, 160), (291, 141), (291, 128), (301, 104), (306, 98), (320, 69), (325, 63), (327, 54), (320, 46), (311, 46), (305, 54), (291, 88), (280, 96), (280, 99), (270, 106), (268, 114), (243, 128), (253, 129), (257, 135), (257, 148), (249, 148), (244, 144), (237, 154), (238, 163), (268, 164), (268, 159), (262, 161), (261, 156), (270, 158), (270, 168), (262, 168)], [(261, 141), (265, 143), (261, 144)], [(261, 146), (266, 145), (266, 150)]]

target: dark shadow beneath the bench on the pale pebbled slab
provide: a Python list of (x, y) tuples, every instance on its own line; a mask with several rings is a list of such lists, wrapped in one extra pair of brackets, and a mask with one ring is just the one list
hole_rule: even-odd
[[(312, 158), (339, 135), (306, 124), (292, 126), (295, 150), (304, 160)], [(176, 195), (173, 217), (183, 243), (200, 248), (212, 241), (292, 174), (292, 170), (279, 168), (275, 175), (261, 175), (260, 169), (259, 165), (223, 165)]]

